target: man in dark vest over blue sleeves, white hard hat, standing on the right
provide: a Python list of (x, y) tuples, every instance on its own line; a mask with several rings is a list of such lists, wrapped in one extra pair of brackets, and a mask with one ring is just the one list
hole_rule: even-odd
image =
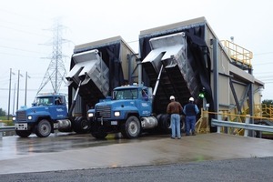
[(194, 104), (195, 99), (190, 97), (188, 103), (184, 106), (183, 112), (186, 115), (186, 136), (189, 136), (189, 131), (191, 130), (191, 135), (196, 135), (196, 121), (199, 109), (196, 104)]

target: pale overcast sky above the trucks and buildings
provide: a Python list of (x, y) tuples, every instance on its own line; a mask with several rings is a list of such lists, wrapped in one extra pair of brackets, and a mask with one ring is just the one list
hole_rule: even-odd
[[(254, 75), (265, 83), (262, 99), (273, 99), (273, 11), (269, 0), (8, 0), (0, 3), (0, 108), (7, 111), (10, 68), (11, 114), (18, 70), (19, 106), (34, 101), (52, 56), (52, 28), (63, 25), (64, 64), (68, 70), (75, 45), (121, 35), (138, 52), (141, 30), (205, 16), (220, 40), (230, 40), (252, 51)], [(50, 92), (52, 86), (45, 87)], [(60, 92), (66, 92), (62, 86)], [(15, 96), (15, 105), (14, 105)]]

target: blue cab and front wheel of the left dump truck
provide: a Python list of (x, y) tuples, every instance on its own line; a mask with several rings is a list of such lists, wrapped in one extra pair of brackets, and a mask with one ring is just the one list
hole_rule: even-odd
[(13, 116), (15, 133), (27, 137), (32, 133), (46, 137), (54, 132), (58, 120), (67, 116), (66, 96), (62, 94), (43, 94), (35, 99), (31, 107), (21, 107)]

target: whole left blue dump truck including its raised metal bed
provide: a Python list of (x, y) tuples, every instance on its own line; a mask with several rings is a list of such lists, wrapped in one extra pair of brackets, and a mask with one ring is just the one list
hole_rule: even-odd
[[(86, 112), (77, 111), (75, 108), (77, 105), (87, 102), (90, 92), (86, 90), (86, 86), (92, 85), (89, 82), (90, 77), (97, 79), (94, 70), (100, 72), (103, 69), (102, 72), (106, 71), (100, 59), (97, 50), (74, 54), (72, 56), (73, 68), (66, 76), (68, 86), (75, 87), (73, 96), (64, 94), (36, 96), (32, 106), (20, 108), (13, 116), (16, 135), (27, 137), (34, 133), (36, 136), (46, 137), (56, 130), (79, 134), (90, 132), (90, 123), (87, 120)], [(86, 62), (88, 62), (88, 66), (85, 66)], [(68, 102), (66, 97), (68, 97)]]

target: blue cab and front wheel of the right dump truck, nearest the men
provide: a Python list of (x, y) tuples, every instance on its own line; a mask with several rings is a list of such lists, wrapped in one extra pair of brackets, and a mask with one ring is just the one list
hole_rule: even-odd
[(147, 86), (116, 87), (111, 97), (88, 110), (92, 136), (105, 138), (119, 131), (127, 138), (139, 136), (142, 129), (157, 125), (157, 119), (151, 116), (152, 100), (152, 89)]

